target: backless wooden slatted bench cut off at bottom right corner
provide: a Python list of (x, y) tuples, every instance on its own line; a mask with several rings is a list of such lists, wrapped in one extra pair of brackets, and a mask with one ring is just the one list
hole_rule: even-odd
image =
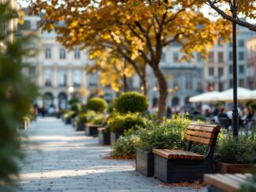
[(206, 174), (204, 182), (209, 184), (208, 192), (235, 192), (248, 183), (251, 174)]

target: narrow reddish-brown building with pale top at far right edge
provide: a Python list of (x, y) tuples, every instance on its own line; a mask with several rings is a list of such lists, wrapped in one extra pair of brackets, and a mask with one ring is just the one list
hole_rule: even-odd
[(246, 42), (247, 47), (247, 88), (256, 89), (256, 36)]

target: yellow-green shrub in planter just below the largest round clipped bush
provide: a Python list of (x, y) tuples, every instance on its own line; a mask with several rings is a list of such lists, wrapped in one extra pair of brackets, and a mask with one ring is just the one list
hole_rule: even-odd
[(111, 132), (125, 132), (137, 126), (144, 127), (144, 122), (139, 114), (114, 114), (108, 119), (108, 127)]

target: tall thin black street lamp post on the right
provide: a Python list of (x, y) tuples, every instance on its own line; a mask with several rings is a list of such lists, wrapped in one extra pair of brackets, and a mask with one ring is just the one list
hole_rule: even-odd
[[(237, 5), (233, 0), (232, 17), (236, 18)], [(232, 136), (238, 137), (239, 121), (237, 110), (237, 66), (236, 66), (236, 23), (232, 22), (232, 49), (233, 49), (233, 110), (232, 110)]]

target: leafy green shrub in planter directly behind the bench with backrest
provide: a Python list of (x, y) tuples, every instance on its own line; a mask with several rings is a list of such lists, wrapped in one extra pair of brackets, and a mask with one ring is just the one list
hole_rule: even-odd
[(184, 150), (187, 143), (184, 140), (185, 130), (190, 122), (187, 116), (182, 118), (180, 114), (173, 115), (170, 120), (160, 125), (149, 122), (145, 129), (137, 131), (137, 136), (140, 138), (137, 147), (148, 152), (154, 148)]

